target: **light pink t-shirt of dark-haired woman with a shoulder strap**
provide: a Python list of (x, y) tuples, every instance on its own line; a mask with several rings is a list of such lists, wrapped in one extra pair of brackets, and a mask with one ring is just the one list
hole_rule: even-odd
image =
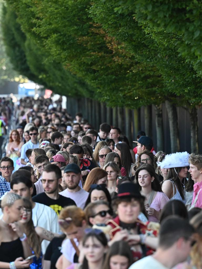
[[(157, 192), (156, 197), (152, 201), (150, 207), (154, 208), (156, 211), (160, 211), (168, 202), (169, 198), (164, 192)], [(148, 215), (148, 221), (159, 222), (155, 215)]]

